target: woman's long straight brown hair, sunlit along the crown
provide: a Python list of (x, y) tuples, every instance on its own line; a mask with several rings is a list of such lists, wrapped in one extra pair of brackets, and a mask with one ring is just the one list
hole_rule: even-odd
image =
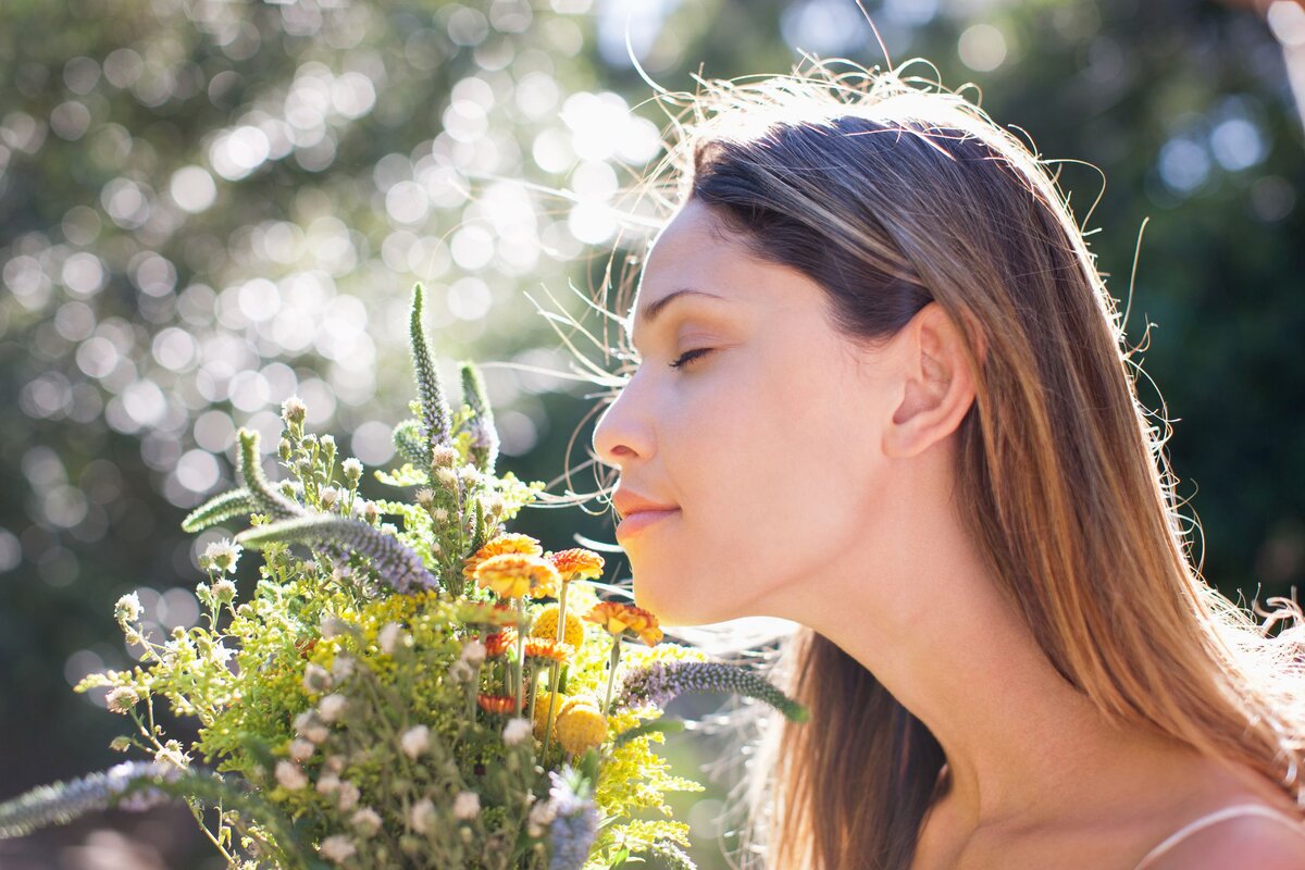
[[(938, 303), (976, 387), (958, 430), (967, 532), (1047, 659), (1108, 721), (1249, 766), (1305, 807), (1305, 614), (1270, 599), (1257, 625), (1191, 563), (1168, 420), (1138, 400), (1052, 162), (938, 82), (838, 63), (663, 91), (692, 116), (641, 197), (710, 206), (752, 254), (814, 279), (850, 340)], [(812, 717), (771, 717), (749, 763), (745, 866), (908, 867), (938, 742), (810, 629), (771, 673)]]

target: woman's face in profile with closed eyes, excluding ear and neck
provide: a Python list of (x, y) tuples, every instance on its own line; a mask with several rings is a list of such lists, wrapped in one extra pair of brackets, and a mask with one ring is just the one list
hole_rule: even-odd
[[(874, 356), (835, 334), (818, 284), (715, 226), (690, 200), (659, 235), (629, 317), (641, 364), (594, 432), (617, 503), (677, 509), (617, 533), (636, 601), (666, 625), (799, 618), (831, 571), (872, 567), (851, 554), (885, 509)], [(684, 288), (711, 296), (662, 307)]]

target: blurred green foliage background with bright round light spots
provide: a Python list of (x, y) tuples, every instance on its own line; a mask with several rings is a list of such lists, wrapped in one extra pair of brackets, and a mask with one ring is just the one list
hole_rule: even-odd
[[(1073, 162), (1061, 185), (1081, 222), (1100, 196), (1090, 243), (1130, 343), (1146, 337), (1159, 393), (1143, 381), (1142, 399), (1173, 420), (1203, 574), (1233, 600), (1292, 595), (1305, 8), (864, 4), (893, 63), (929, 59), (1043, 157), (1104, 171), (1104, 193)], [(694, 73), (786, 73), (803, 51), (883, 65), (855, 0), (4, 0), (0, 800), (121, 760), (107, 745), (127, 720), (70, 686), (132, 663), (117, 596), (137, 591), (158, 626), (197, 621), (196, 558), (221, 531), (180, 522), (232, 487), (238, 427), (270, 451), (298, 394), (311, 430), (389, 466), (414, 397), (414, 282), (446, 383), (454, 360), (483, 365), (500, 471), (591, 492), (596, 394), (547, 374), (574, 357), (540, 309), (602, 329), (581, 296), (613, 249), (641, 249), (612, 206), (660, 155), (666, 115), (630, 52), (694, 90)], [(364, 493), (389, 496), (369, 472)], [(612, 541), (598, 507), (515, 528)], [(248, 592), (257, 554), (243, 561)], [(619, 554), (608, 567), (629, 575)], [(667, 746), (690, 776), (715, 751)], [(727, 787), (676, 802), (703, 869), (727, 866)], [(221, 867), (210, 852), (184, 809), (106, 814), (0, 843), (0, 869)]]

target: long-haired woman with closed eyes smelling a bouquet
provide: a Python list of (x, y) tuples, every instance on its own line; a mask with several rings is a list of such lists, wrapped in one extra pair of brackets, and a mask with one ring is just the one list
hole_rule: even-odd
[(804, 626), (767, 865), (1305, 867), (1298, 630), (1189, 562), (1054, 181), (851, 80), (702, 82), (594, 433), (642, 607)]

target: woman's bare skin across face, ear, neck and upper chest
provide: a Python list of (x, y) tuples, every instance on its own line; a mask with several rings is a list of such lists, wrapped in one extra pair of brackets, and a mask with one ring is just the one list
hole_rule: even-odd
[[(681, 287), (722, 299), (683, 296), (646, 322)], [(870, 347), (825, 307), (698, 201), (656, 239), (630, 316), (641, 365), (594, 433), (620, 488), (679, 509), (619, 533), (639, 607), (668, 626), (793, 620), (872, 670), (947, 758), (915, 870), (1131, 869), (1229, 802), (1288, 807), (1249, 770), (1111, 729), (1001, 599), (959, 522), (974, 383), (942, 309)]]

